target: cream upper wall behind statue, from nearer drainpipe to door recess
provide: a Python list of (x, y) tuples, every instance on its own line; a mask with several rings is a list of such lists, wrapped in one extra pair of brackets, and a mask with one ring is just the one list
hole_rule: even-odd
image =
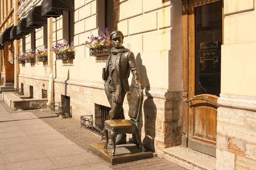
[[(56, 78), (62, 79), (69, 76), (77, 80), (102, 81), (101, 74), (105, 62), (96, 62), (95, 57), (89, 56), (89, 48), (83, 45), (88, 36), (99, 34), (97, 21), (100, 20), (98, 17), (101, 11), (97, 9), (97, 2), (97, 0), (75, 0), (74, 45), (76, 47), (76, 59), (70, 65), (57, 60)], [(146, 5), (139, 10), (142, 3)], [(147, 4), (153, 5), (147, 6)], [(130, 6), (135, 8), (132, 11), (137, 12), (132, 14)], [(140, 16), (137, 16), (139, 14)], [(168, 61), (169, 50), (171, 49), (170, 2), (163, 4), (161, 0), (151, 2), (124, 1), (120, 4), (119, 16), (118, 29), (125, 35), (123, 45), (126, 47), (128, 43), (131, 44), (131, 51), (134, 52), (137, 60), (140, 60), (140, 68), (145, 68), (147, 72), (147, 77), (142, 76), (142, 81), (145, 82), (143, 85), (168, 89)], [(61, 17), (54, 22), (53, 31), (58, 42), (64, 42), (62, 23)], [(152, 65), (152, 61), (154, 61), (154, 65)], [(91, 74), (81, 74), (87, 72)], [(129, 79), (130, 83), (131, 81), (132, 77)]]

